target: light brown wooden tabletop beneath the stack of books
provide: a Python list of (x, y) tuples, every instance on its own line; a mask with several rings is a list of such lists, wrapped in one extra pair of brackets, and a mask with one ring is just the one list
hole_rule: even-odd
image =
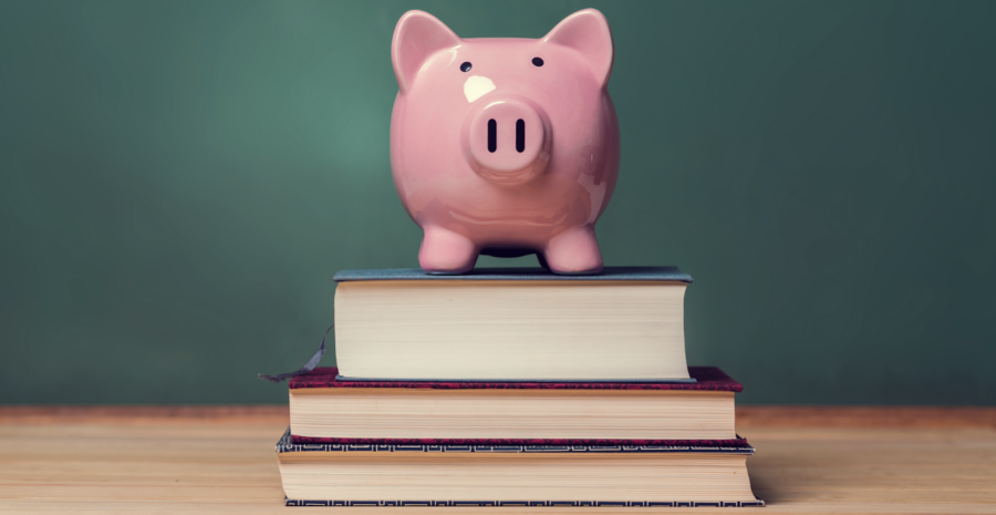
[(764, 508), (284, 507), (277, 406), (0, 406), (0, 513), (996, 513), (996, 409), (738, 408)]

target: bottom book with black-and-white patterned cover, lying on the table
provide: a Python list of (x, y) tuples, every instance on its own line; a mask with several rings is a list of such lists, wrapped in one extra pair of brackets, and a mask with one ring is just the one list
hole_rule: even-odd
[(750, 446), (277, 444), (290, 506), (764, 506)]

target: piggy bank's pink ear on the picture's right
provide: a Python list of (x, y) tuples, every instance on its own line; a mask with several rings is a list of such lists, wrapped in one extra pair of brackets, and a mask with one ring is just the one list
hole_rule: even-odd
[(609, 21), (601, 12), (594, 9), (575, 12), (558, 23), (543, 41), (581, 52), (602, 85), (609, 82), (615, 50)]

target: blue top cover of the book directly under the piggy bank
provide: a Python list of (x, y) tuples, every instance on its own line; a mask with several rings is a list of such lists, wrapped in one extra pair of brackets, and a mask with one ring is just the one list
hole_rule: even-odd
[(678, 281), (692, 282), (692, 276), (677, 267), (605, 267), (591, 276), (558, 276), (543, 268), (475, 268), (467, 274), (427, 274), (421, 268), (380, 268), (340, 270), (336, 282), (356, 280), (552, 280), (552, 281)]

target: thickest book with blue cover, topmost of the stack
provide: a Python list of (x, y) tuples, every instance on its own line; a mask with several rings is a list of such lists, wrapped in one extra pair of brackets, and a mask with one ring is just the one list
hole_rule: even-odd
[(342, 270), (335, 359), (350, 380), (675, 381), (685, 361), (675, 267)]

